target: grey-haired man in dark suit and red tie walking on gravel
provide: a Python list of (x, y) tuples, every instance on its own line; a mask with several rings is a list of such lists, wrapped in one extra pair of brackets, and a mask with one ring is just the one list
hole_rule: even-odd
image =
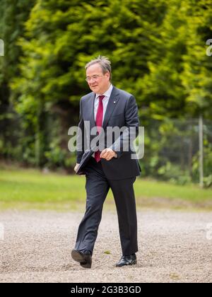
[[(78, 127), (81, 129), (82, 149), (77, 151), (74, 168), (76, 173), (79, 173), (81, 168), (81, 174), (86, 174), (86, 213), (78, 227), (76, 246), (71, 251), (71, 256), (82, 267), (91, 267), (102, 206), (111, 188), (117, 207), (122, 245), (122, 257), (116, 266), (136, 264), (138, 243), (133, 185), (141, 169), (138, 160), (131, 157), (134, 152), (131, 146), (128, 150), (124, 149), (138, 134), (139, 115), (136, 100), (133, 95), (112, 86), (111, 66), (107, 57), (99, 56), (86, 64), (86, 81), (92, 92), (81, 98)], [(86, 122), (89, 125), (86, 125)], [(111, 129), (107, 129), (109, 127), (124, 129), (119, 136), (114, 136)], [(97, 135), (101, 134), (101, 131), (105, 132), (104, 148), (101, 149), (98, 142), (94, 152), (92, 147), (90, 148), (96, 136), (90, 134), (93, 128), (96, 128)], [(132, 128), (136, 131), (133, 136)], [(90, 136), (88, 143), (85, 141), (85, 134)], [(85, 156), (88, 156), (86, 162)]]

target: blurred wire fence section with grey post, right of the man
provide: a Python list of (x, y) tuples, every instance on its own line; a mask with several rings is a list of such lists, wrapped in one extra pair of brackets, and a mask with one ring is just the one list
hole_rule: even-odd
[(212, 122), (202, 117), (151, 121), (145, 131), (141, 163), (149, 162), (146, 175), (199, 182), (201, 187), (212, 184)]

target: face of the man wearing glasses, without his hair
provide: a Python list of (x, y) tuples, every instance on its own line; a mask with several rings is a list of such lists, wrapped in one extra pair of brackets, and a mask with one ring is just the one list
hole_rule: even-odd
[(110, 73), (102, 73), (100, 64), (93, 64), (86, 70), (86, 78), (90, 90), (94, 93), (103, 94), (110, 86)]

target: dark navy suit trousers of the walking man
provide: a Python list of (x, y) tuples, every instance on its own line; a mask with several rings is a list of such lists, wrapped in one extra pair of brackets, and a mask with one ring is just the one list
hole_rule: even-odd
[(108, 191), (112, 190), (117, 208), (119, 235), (122, 255), (138, 251), (136, 201), (134, 181), (136, 177), (125, 180), (110, 180), (105, 177), (102, 164), (91, 157), (86, 168), (86, 213), (78, 227), (76, 250), (90, 250), (93, 254), (98, 227), (102, 219), (102, 207)]

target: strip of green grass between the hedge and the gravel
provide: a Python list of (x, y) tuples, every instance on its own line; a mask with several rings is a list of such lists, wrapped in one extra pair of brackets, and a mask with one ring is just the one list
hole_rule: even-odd
[[(138, 206), (212, 209), (212, 189), (201, 190), (196, 185), (179, 186), (142, 178), (137, 178), (134, 186)], [(1, 209), (74, 210), (84, 209), (85, 201), (84, 176), (0, 169)], [(114, 207), (111, 191), (106, 205)]]

